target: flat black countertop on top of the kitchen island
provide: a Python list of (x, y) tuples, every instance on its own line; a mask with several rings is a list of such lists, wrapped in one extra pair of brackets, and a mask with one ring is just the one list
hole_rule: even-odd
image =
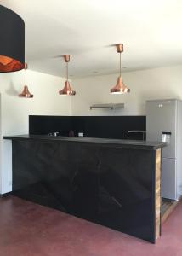
[(109, 145), (116, 148), (135, 148), (145, 150), (156, 150), (157, 148), (166, 147), (167, 143), (162, 142), (148, 142), (148, 141), (134, 141), (134, 140), (120, 140), (96, 137), (54, 137), (46, 135), (13, 135), (4, 136), (4, 139), (9, 140), (41, 140), (41, 141), (63, 141), (75, 143), (98, 143), (100, 146)]

